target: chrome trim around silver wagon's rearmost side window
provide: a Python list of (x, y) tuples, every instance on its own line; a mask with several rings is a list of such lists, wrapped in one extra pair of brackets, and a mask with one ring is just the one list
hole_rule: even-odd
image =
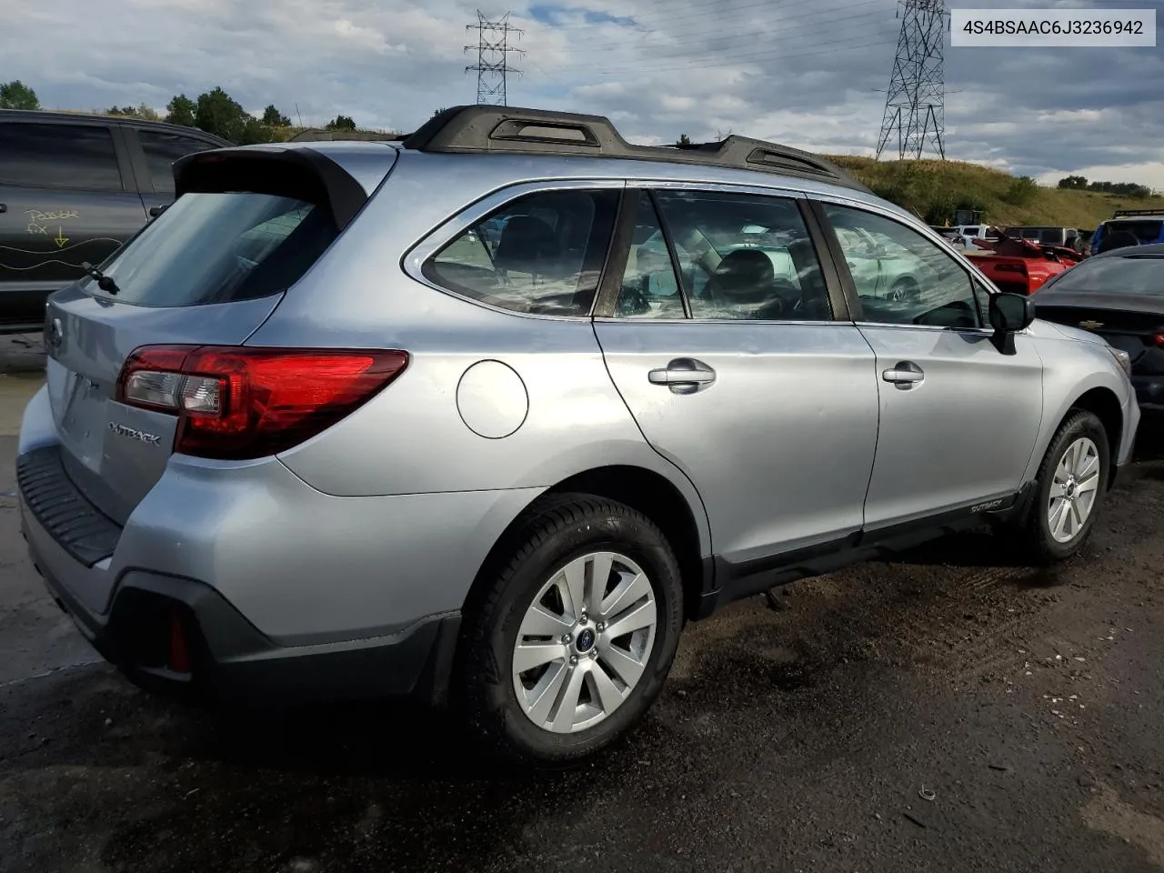
[[(496, 212), (503, 206), (513, 203), (526, 194), (533, 194), (540, 191), (623, 191), (625, 187), (625, 179), (612, 179), (606, 177), (598, 177), (594, 179), (539, 179), (537, 182), (520, 182), (512, 185), (505, 185), (485, 194), (480, 200), (464, 206), (460, 212), (454, 213), (440, 225), (426, 232), (404, 253), (404, 256), (400, 258), (400, 268), (410, 278), (419, 282), (421, 285), (431, 288), (434, 291), (440, 291), (442, 294), (447, 294), (457, 300), (471, 303), (474, 306), (480, 306), (481, 308), (489, 310), (491, 312), (499, 312), (505, 315), (516, 315), (518, 318), (537, 319), (539, 321), (590, 321), (590, 312), (582, 315), (555, 315), (542, 312), (517, 312), (516, 310), (508, 310), (504, 306), (495, 306), (490, 303), (484, 303), (483, 300), (475, 300), (471, 297), (466, 297), (464, 294), (460, 294), (452, 289), (438, 285), (435, 282), (431, 282), (428, 277), (425, 276), (423, 268), (428, 258), (433, 257), (457, 236), (469, 230), (475, 223), (488, 218), (490, 213)], [(603, 267), (605, 267), (605, 263)], [(595, 297), (597, 297), (597, 292), (595, 292)], [(592, 311), (594, 306), (591, 304), (591, 312)]]

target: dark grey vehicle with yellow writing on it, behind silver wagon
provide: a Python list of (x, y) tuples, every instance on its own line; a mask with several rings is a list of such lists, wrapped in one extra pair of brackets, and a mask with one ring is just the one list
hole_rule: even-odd
[(52, 291), (173, 199), (170, 165), (223, 146), (155, 121), (0, 109), (0, 333), (40, 331)]

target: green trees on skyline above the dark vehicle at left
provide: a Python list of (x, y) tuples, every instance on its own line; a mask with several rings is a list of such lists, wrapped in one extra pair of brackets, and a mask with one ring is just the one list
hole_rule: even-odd
[[(36, 92), (20, 79), (0, 84), (0, 109), (40, 108), (41, 101)], [(291, 127), (291, 119), (275, 104), (268, 105), (261, 118), (255, 118), (220, 86), (203, 92), (197, 98), (175, 94), (165, 106), (165, 114), (144, 102), (137, 106), (111, 106), (106, 114), (197, 127), (236, 146), (286, 139), (279, 136), (278, 130)], [(355, 130), (356, 122), (349, 115), (336, 115), (325, 127), (328, 130)]]

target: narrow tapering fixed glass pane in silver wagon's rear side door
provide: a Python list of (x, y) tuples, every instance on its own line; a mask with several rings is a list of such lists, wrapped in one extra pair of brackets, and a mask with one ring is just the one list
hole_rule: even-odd
[(683, 296), (659, 215), (645, 191), (638, 194), (634, 214), (636, 227), (615, 314), (619, 318), (686, 318)]

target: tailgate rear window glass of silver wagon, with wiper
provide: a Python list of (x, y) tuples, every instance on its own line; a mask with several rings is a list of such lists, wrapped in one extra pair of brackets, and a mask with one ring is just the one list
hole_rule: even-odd
[[(339, 230), (324, 206), (249, 192), (178, 198), (102, 267), (140, 306), (200, 306), (285, 290)], [(86, 281), (93, 294), (108, 292)]]

